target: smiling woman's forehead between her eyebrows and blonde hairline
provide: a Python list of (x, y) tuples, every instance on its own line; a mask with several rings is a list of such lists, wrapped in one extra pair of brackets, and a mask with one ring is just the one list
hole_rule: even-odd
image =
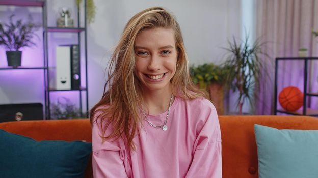
[(175, 46), (175, 33), (171, 28), (148, 28), (139, 32), (134, 46), (161, 47)]

